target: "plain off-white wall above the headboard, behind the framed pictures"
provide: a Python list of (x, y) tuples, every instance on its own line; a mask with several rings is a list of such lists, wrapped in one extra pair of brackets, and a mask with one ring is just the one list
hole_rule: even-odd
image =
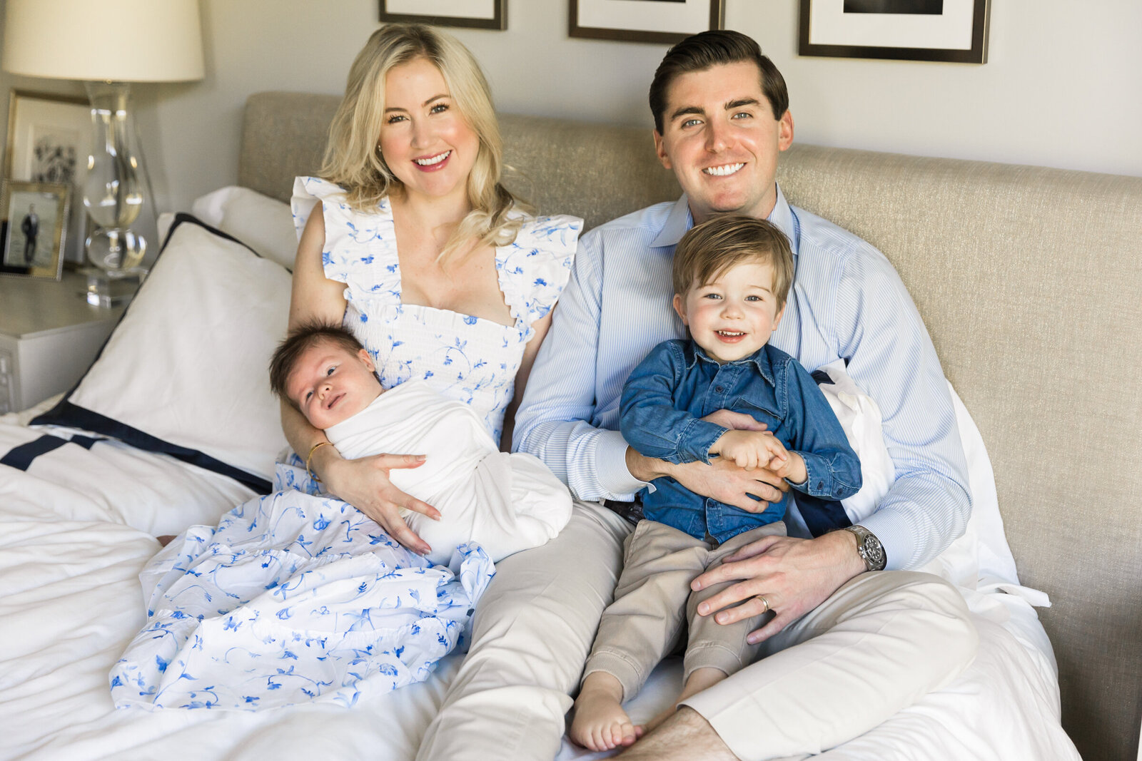
[[(568, 5), (509, 0), (508, 31), (455, 34), (501, 111), (649, 128), (666, 46), (572, 40)], [(799, 141), (1142, 176), (1142, 2), (992, 0), (982, 66), (798, 57), (797, 5), (726, 0), (726, 26), (786, 75)], [(247, 95), (340, 92), (378, 25), (376, 0), (202, 0), (202, 16), (206, 80), (138, 88), (160, 208), (234, 181)]]

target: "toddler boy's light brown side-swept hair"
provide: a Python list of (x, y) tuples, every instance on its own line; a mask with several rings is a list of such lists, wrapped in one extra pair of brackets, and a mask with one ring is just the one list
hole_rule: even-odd
[(682, 236), (674, 251), (674, 292), (685, 298), (690, 289), (750, 259), (773, 266), (773, 296), (780, 309), (793, 284), (789, 238), (772, 222), (743, 214), (718, 214)]

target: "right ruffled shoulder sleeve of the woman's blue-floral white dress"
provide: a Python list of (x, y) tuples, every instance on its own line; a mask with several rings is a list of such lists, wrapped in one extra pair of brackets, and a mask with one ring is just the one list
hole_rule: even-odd
[(504, 300), (529, 331), (547, 316), (568, 284), (581, 230), (578, 217), (536, 217), (523, 224), (514, 243), (500, 249)]

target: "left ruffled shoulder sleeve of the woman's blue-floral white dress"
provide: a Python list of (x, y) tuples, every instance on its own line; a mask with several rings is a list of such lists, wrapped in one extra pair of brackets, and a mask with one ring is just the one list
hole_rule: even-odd
[(345, 283), (351, 299), (355, 296), (400, 300), (396, 234), (388, 201), (381, 201), (375, 213), (364, 213), (345, 201), (340, 186), (319, 177), (298, 177), (290, 201), (298, 238), (315, 201), (321, 201), (325, 220), (325, 243), (321, 250), (325, 277)]

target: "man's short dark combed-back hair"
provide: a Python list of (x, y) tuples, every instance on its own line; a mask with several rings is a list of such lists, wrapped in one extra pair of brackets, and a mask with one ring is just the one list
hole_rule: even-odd
[(666, 51), (650, 83), (650, 112), (654, 115), (654, 129), (662, 133), (666, 115), (666, 95), (670, 84), (682, 74), (701, 72), (713, 66), (750, 62), (757, 66), (762, 78), (762, 92), (770, 102), (773, 119), (781, 119), (789, 110), (789, 90), (785, 78), (751, 37), (732, 30), (710, 30), (687, 37)]

